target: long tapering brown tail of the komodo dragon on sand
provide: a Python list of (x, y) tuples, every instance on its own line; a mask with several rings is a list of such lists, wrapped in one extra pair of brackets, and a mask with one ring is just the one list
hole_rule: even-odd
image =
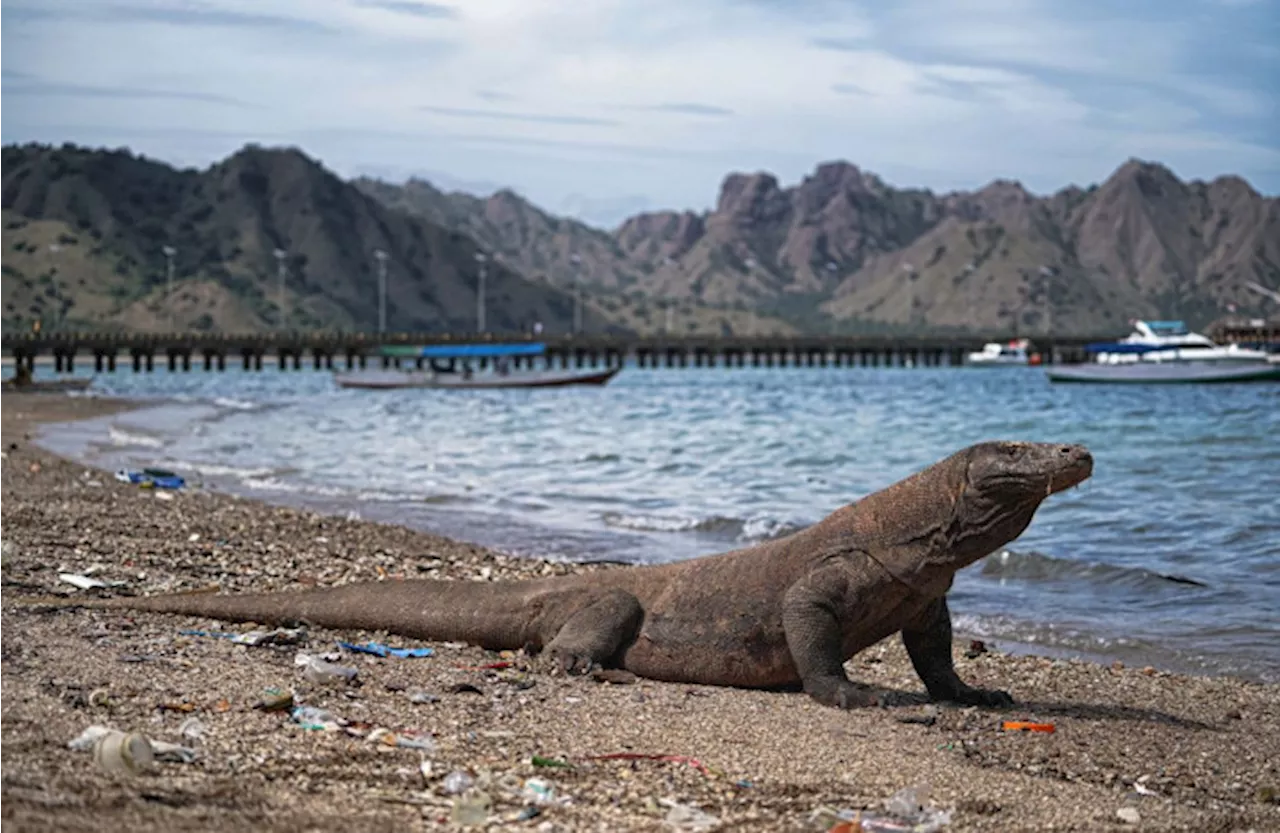
[(535, 612), (520, 582), (376, 581), (282, 592), (180, 592), (113, 599), (29, 599), (24, 607), (180, 613), (224, 619), (388, 631), (426, 640), (462, 641), (492, 650), (538, 644)]

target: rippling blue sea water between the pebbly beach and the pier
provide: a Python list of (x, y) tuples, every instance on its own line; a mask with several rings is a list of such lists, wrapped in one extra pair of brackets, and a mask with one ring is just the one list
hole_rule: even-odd
[(125, 371), (95, 390), (169, 404), (46, 444), (572, 559), (659, 562), (782, 535), (979, 440), (1084, 443), (1093, 479), (960, 573), (957, 630), (1280, 681), (1280, 385), (628, 369), (605, 388), (358, 392), (269, 369)]

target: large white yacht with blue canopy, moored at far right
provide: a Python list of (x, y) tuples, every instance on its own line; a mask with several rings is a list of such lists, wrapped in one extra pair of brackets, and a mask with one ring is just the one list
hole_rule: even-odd
[(1215, 344), (1181, 321), (1134, 321), (1117, 342), (1089, 344), (1092, 361), (1052, 365), (1050, 381), (1207, 383), (1280, 380), (1280, 362), (1263, 351)]

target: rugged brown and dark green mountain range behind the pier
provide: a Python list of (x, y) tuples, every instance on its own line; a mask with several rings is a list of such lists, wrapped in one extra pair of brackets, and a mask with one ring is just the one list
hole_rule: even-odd
[(389, 329), (472, 330), (484, 252), (492, 330), (567, 331), (580, 293), (588, 331), (1119, 334), (1133, 317), (1266, 313), (1248, 283), (1280, 285), (1280, 200), (1139, 160), (1050, 196), (1012, 180), (896, 188), (833, 161), (787, 187), (731, 173), (712, 210), (607, 230), (511, 189), (347, 182), (297, 148), (179, 170), (128, 151), (0, 147), (0, 328), (371, 330), (375, 250), (389, 256)]

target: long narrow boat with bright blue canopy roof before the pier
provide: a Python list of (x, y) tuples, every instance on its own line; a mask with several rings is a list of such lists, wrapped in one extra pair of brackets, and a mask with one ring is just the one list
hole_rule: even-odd
[[(383, 347), (381, 356), (425, 358), (422, 370), (361, 370), (334, 372), (339, 388), (396, 390), (402, 388), (453, 388), (492, 390), (499, 388), (564, 388), (568, 385), (604, 385), (618, 375), (621, 367), (605, 370), (513, 370), (508, 361), (517, 356), (540, 356), (541, 343), (517, 344), (433, 344), (429, 347)], [(470, 360), (493, 360), (490, 367), (472, 371)], [(461, 367), (458, 363), (461, 362)]]

